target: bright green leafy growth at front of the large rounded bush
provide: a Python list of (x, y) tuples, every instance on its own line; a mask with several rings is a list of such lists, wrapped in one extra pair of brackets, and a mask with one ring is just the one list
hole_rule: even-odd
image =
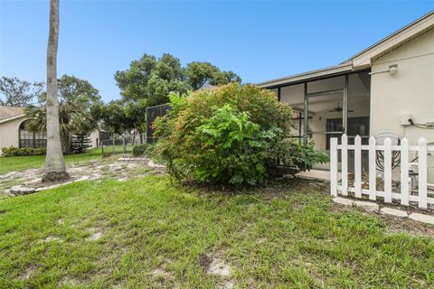
[(250, 114), (239, 112), (230, 105), (215, 110), (197, 128), (197, 141), (202, 142), (201, 154), (191, 163), (193, 178), (199, 182), (251, 185), (262, 182), (266, 176), (264, 160), (268, 140), (275, 136), (269, 129), (250, 121)]

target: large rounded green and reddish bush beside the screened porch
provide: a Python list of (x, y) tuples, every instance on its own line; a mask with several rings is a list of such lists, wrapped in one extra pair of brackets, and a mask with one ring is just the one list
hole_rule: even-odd
[(309, 150), (285, 145), (294, 128), (292, 110), (270, 90), (229, 84), (170, 100), (173, 109), (154, 126), (168, 172), (179, 180), (255, 184), (281, 160), (296, 164), (290, 150)]

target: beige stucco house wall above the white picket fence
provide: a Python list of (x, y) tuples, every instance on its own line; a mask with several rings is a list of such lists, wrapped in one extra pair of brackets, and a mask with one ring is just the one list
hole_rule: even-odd
[[(372, 72), (398, 64), (398, 72), (374, 74), (371, 78), (371, 135), (393, 130), (410, 144), (421, 136), (434, 142), (434, 129), (401, 126), (400, 117), (410, 114), (416, 123), (434, 122), (434, 29), (373, 61)], [(434, 165), (434, 156), (430, 156)], [(434, 168), (429, 169), (434, 181)]]

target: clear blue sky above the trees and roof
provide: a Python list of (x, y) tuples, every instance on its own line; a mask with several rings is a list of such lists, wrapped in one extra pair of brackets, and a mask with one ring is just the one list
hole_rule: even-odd
[[(119, 98), (113, 75), (143, 53), (210, 61), (244, 82), (335, 65), (434, 9), (434, 2), (61, 0), (58, 74)], [(45, 79), (48, 1), (0, 0), (0, 76)]]

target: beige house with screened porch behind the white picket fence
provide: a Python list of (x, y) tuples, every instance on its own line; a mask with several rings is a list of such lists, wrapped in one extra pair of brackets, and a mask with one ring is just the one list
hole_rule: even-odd
[(434, 142), (434, 12), (334, 67), (258, 85), (297, 111), (297, 136), (323, 151), (343, 133), (350, 144), (386, 130), (410, 144), (421, 136)]

